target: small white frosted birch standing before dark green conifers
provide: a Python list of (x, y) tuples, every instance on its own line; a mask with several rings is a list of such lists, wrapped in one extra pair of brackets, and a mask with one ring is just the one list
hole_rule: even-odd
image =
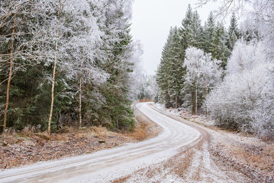
[[(208, 91), (221, 80), (221, 61), (212, 60), (210, 54), (205, 54), (203, 50), (195, 47), (186, 49), (184, 67), (186, 67), (184, 106), (191, 106), (192, 114), (197, 114), (198, 101), (208, 95)], [(201, 98), (199, 99), (199, 93)], [(191, 101), (191, 102), (190, 102)]]

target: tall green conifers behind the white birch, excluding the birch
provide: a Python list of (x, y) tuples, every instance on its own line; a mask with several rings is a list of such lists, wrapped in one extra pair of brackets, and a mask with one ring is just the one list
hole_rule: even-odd
[[(222, 60), (221, 65), (225, 68), (229, 56), (226, 42), (226, 30), (220, 23), (215, 23), (212, 13), (208, 17), (208, 23), (202, 27), (198, 12), (192, 12), (191, 6), (188, 5), (182, 26), (178, 32), (176, 28), (171, 29), (162, 51), (162, 58), (156, 75), (159, 86), (157, 101), (166, 107), (191, 106), (192, 102), (189, 99), (195, 95), (192, 95), (193, 90), (185, 82), (186, 68), (182, 67), (186, 58), (186, 49), (197, 47), (206, 50), (207, 56), (210, 57), (208, 60), (216, 60), (217, 65), (220, 62), (217, 60)], [(201, 90), (199, 87), (197, 95), (203, 98), (206, 91), (208, 90)], [(201, 103), (202, 101), (199, 101), (199, 106)]]

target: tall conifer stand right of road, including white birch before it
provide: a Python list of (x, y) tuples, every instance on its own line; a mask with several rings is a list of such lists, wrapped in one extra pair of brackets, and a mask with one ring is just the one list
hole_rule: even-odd
[[(221, 71), (225, 69), (227, 59), (240, 36), (241, 33), (238, 29), (235, 14), (232, 15), (227, 30), (221, 23), (215, 21), (212, 12), (208, 16), (205, 25), (202, 26), (198, 12), (193, 12), (190, 5), (188, 5), (182, 26), (179, 28), (171, 27), (169, 37), (164, 45), (156, 76), (159, 93), (155, 100), (163, 103), (167, 108), (178, 108), (182, 105), (186, 108), (192, 106), (192, 113), (197, 113), (195, 109), (201, 107), (202, 99), (205, 98), (206, 93), (212, 88), (212, 84), (214, 85), (216, 82), (210, 81), (210, 78), (208, 78), (208, 84), (203, 84), (203, 90), (198, 91), (198, 77), (202, 78), (202, 73), (196, 73), (197, 76), (194, 76), (194, 73), (190, 73), (190, 67), (187, 67), (186, 63), (184, 63), (184, 60), (187, 58), (186, 50), (190, 47), (202, 49), (203, 53), (200, 53), (200, 56), (204, 57), (203, 60), (212, 60), (212, 63), (205, 62), (205, 64), (209, 64), (207, 65), (208, 67), (218, 67), (208, 69)], [(188, 60), (191, 59), (190, 57), (192, 56), (189, 56)], [(217, 60), (221, 60), (221, 63)], [(210, 70), (206, 71), (206, 68), (200, 65), (201, 62), (195, 64), (192, 64), (192, 69), (197, 68), (199, 72), (208, 72), (208, 74), (212, 72)], [(221, 75), (218, 75), (219, 73), (215, 74), (212, 77), (221, 77)], [(190, 77), (195, 78), (190, 79)], [(192, 81), (188, 80), (197, 81), (192, 84)], [(216, 78), (216, 80), (219, 79)]]

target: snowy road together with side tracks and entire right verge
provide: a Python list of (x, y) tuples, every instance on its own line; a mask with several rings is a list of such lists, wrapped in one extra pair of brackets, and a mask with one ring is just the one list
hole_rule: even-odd
[[(139, 103), (137, 108), (143, 120), (154, 121), (162, 128), (159, 136), (2, 171), (0, 182), (274, 182), (271, 142), (219, 130), (206, 117), (186, 116), (189, 121), (182, 112), (156, 109), (152, 103)], [(157, 133), (152, 130), (151, 134)], [(268, 162), (253, 166), (262, 161), (251, 158), (254, 151), (265, 155), (262, 157)], [(242, 154), (250, 157), (242, 158)]]

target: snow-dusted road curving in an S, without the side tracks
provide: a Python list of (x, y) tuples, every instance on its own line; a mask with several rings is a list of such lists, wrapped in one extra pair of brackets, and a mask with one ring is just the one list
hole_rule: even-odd
[(138, 103), (137, 108), (162, 127), (159, 136), (84, 156), (0, 171), (0, 182), (108, 182), (167, 160), (177, 149), (201, 137), (197, 130), (166, 117), (149, 103)]

